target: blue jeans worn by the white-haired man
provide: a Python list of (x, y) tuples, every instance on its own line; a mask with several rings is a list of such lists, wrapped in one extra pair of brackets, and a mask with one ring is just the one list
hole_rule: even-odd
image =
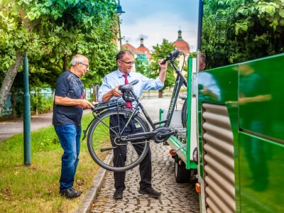
[(73, 186), (74, 177), (79, 162), (81, 127), (74, 124), (54, 126), (60, 144), (64, 150), (60, 176), (60, 190)]

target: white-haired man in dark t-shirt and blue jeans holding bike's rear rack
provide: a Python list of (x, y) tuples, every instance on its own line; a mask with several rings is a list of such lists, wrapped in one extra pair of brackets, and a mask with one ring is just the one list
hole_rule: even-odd
[(63, 72), (55, 86), (53, 125), (64, 150), (60, 176), (60, 195), (72, 199), (82, 191), (73, 188), (79, 162), (81, 119), (83, 109), (93, 107), (84, 99), (84, 86), (80, 80), (89, 70), (89, 60), (84, 55), (75, 55), (70, 70)]

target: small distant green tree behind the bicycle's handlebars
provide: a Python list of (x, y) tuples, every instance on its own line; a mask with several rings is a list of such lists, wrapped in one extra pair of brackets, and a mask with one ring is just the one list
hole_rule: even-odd
[[(166, 56), (175, 49), (173, 43), (168, 42), (168, 40), (163, 39), (161, 45), (153, 46), (153, 53), (151, 55), (152, 62), (150, 65), (150, 77), (157, 77), (160, 73), (160, 66), (158, 65), (158, 60), (161, 58), (166, 58)], [(176, 62), (178, 64), (178, 62)], [(175, 77), (173, 75), (173, 67), (168, 63), (167, 75), (165, 76), (165, 86), (159, 91), (159, 97), (163, 97), (163, 90), (166, 87), (173, 87), (175, 84)]]

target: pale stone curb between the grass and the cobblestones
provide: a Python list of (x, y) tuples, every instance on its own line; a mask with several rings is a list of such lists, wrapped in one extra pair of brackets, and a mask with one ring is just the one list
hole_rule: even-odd
[[(109, 158), (109, 162), (111, 160), (112, 158)], [(79, 207), (75, 210), (75, 213), (91, 212), (92, 204), (97, 198), (97, 192), (99, 192), (99, 190), (102, 188), (106, 173), (107, 170), (105, 170), (104, 168), (99, 168), (99, 170), (97, 170), (97, 174), (94, 176), (91, 187), (89, 187), (89, 190), (87, 190), (86, 194), (78, 205)]]

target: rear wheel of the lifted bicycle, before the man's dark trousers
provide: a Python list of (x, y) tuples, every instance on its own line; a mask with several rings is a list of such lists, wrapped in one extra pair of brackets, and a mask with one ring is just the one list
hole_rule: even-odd
[[(136, 167), (136, 165), (141, 163), (141, 161), (145, 158), (149, 147), (148, 141), (129, 142), (119, 145), (114, 143), (116, 138), (110, 134), (110, 132), (114, 134), (115, 131), (116, 134), (120, 135), (121, 132), (119, 126), (110, 127), (112, 125), (111, 118), (113, 119), (116, 116), (128, 118), (131, 113), (132, 111), (127, 109), (121, 109), (119, 111), (116, 109), (107, 110), (99, 114), (99, 116), (97, 116), (97, 118), (92, 122), (88, 132), (87, 146), (93, 160), (100, 167), (113, 172), (123, 172)], [(135, 121), (136, 128), (143, 132), (150, 131), (148, 124), (140, 116), (140, 114), (137, 114), (133, 119)], [(112, 143), (111, 138), (113, 141)], [(102, 151), (104, 148), (107, 148), (107, 151)], [(116, 155), (119, 156), (116, 160), (114, 160), (114, 151), (119, 153), (119, 155)], [(126, 159), (121, 158), (121, 153), (123, 152), (126, 152)], [(119, 161), (119, 163), (122, 161), (125, 162), (124, 165), (115, 166), (117, 161)]]

